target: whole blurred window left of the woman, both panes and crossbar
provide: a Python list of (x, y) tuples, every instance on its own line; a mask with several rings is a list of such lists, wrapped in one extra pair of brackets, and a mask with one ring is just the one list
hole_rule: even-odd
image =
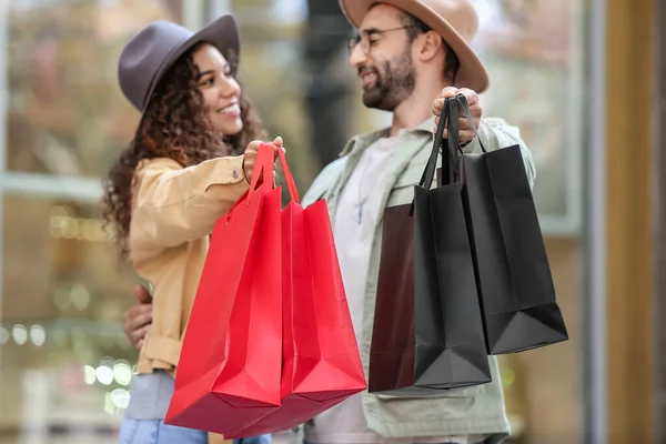
[(2, 444), (118, 441), (137, 359), (122, 314), (139, 281), (102, 231), (99, 180), (139, 119), (118, 87), (120, 51), (151, 21), (184, 20), (183, 4), (21, 0), (2, 10)]

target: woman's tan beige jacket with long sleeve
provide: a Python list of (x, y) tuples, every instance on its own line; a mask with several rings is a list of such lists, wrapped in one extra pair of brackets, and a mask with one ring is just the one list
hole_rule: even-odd
[(209, 234), (249, 188), (242, 162), (242, 155), (229, 157), (182, 168), (171, 159), (152, 159), (137, 170), (130, 258), (153, 286), (153, 320), (138, 373), (175, 373)]

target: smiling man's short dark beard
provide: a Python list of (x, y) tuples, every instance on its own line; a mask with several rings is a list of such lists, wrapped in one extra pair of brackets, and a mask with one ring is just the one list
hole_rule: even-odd
[(393, 112), (398, 104), (412, 95), (416, 84), (410, 49), (405, 49), (396, 59), (385, 61), (383, 69), (381, 71), (376, 69), (375, 72), (377, 80), (374, 87), (363, 90), (363, 104)]

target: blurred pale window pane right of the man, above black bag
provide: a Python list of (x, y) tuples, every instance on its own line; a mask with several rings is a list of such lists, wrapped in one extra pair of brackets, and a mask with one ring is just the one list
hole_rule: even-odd
[[(484, 115), (521, 129), (538, 180), (546, 234), (581, 232), (581, 160), (586, 89), (584, 2), (476, 0), (474, 44), (491, 77)], [(506, 88), (506, 85), (513, 85)]]

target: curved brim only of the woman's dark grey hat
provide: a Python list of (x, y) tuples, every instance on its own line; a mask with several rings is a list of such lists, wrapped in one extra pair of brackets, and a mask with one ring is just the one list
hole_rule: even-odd
[[(184, 54), (190, 49), (202, 42), (212, 44), (222, 53), (233, 51), (236, 60), (240, 59), (241, 40), (239, 37), (239, 30), (235, 19), (231, 14), (224, 14), (206, 24), (204, 28), (202, 28), (199, 32), (194, 33), (189, 39), (184, 40), (181, 44), (175, 47), (173, 51), (169, 53), (168, 57), (164, 58), (162, 64), (160, 65), (160, 69), (154, 75), (153, 81), (148, 90), (145, 100), (143, 101), (143, 112), (145, 112), (145, 109), (150, 103), (150, 99), (152, 98), (155, 88), (158, 87), (158, 84), (160, 84), (160, 81), (162, 80), (169, 68), (171, 68), (171, 65), (182, 54)], [(234, 65), (234, 68), (238, 68), (238, 63), (236, 65)]]

